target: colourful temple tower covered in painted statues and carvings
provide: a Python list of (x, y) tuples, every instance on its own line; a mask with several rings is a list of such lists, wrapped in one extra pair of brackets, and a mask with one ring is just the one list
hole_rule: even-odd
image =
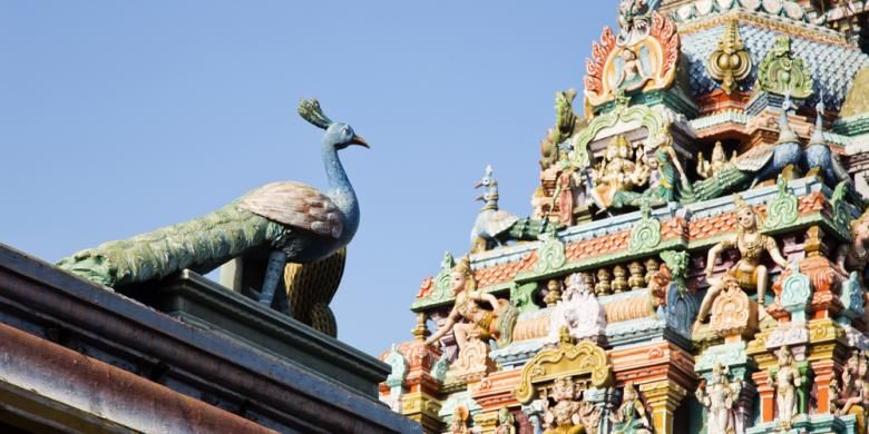
[(481, 170), (380, 400), (428, 433), (867, 433), (865, 10), (621, 1), (527, 216)]

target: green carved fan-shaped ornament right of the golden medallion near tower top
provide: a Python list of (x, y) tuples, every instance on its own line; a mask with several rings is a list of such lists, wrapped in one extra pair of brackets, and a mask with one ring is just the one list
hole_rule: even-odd
[(791, 51), (791, 38), (775, 38), (772, 49), (758, 66), (758, 83), (764, 91), (778, 95), (789, 93), (794, 98), (812, 95), (814, 82), (802, 59)]

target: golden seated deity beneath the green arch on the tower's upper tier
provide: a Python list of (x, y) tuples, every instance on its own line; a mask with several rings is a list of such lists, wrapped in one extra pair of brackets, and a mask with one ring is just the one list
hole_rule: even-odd
[[(616, 136), (606, 147), (604, 160), (593, 170), (592, 180), (595, 187), (590, 194), (599, 207), (605, 211), (614, 205), (614, 198), (618, 193), (631, 191), (635, 187), (642, 187), (648, 183), (651, 169), (643, 158), (643, 152), (637, 152), (636, 161), (631, 159), (633, 148), (624, 136)], [(618, 207), (618, 204), (615, 204)]]

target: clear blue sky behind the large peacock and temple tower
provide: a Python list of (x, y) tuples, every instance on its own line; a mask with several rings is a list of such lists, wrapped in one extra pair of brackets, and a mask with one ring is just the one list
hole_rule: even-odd
[[(0, 243), (56, 262), (260, 185), (325, 186), (301, 97), (364, 136), (362, 208), (332, 306), (378, 355), (459, 256), (491, 164), (530, 213), (556, 90), (582, 90), (616, 1), (0, 0)], [(582, 96), (577, 98), (577, 106)]]

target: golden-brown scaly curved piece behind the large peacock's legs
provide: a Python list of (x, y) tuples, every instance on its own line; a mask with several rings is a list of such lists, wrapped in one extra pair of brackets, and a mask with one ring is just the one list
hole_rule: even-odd
[(346, 247), (311, 264), (287, 264), (284, 268), (286, 296), (293, 318), (332, 337), (338, 326), (329, 304), (344, 274)]

